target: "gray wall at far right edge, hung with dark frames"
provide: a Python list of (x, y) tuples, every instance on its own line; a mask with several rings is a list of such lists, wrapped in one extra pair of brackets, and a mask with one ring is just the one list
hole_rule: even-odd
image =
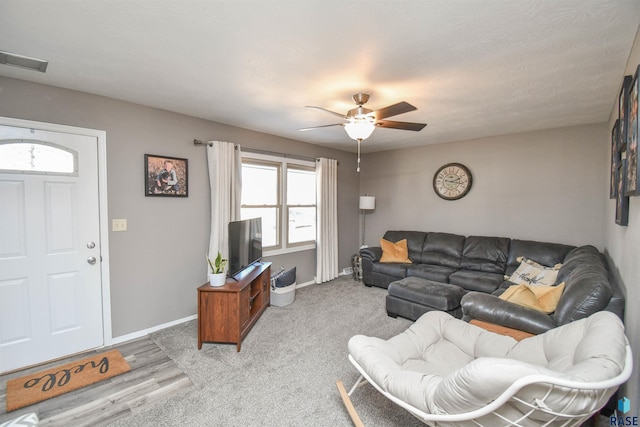
[[(636, 36), (635, 43), (629, 56), (629, 62), (625, 70), (625, 75), (634, 75), (640, 64), (640, 35)], [(620, 80), (622, 85), (622, 77)], [(617, 101), (617, 94), (614, 94)], [(608, 129), (612, 129), (618, 118), (618, 106), (614, 103), (611, 108), (611, 118)], [(609, 137), (602, 141), (602, 155), (607, 159), (610, 157)], [(608, 193), (606, 193), (608, 195)], [(636, 308), (636, 303), (640, 301), (640, 196), (629, 198), (629, 225), (622, 227), (616, 225), (616, 204), (615, 200), (606, 198), (606, 216), (604, 228), (606, 230), (606, 249), (613, 261), (615, 268), (619, 272), (622, 281), (627, 289), (627, 310), (625, 312), (625, 326), (627, 337), (633, 349), (634, 360), (633, 375), (625, 386), (625, 394), (631, 400), (633, 415), (639, 415), (640, 410), (640, 366), (638, 360), (640, 356), (640, 310)]]

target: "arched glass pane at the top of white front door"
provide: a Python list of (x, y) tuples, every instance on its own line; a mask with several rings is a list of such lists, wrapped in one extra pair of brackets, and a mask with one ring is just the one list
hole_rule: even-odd
[(0, 170), (77, 174), (77, 154), (36, 141), (0, 143)]

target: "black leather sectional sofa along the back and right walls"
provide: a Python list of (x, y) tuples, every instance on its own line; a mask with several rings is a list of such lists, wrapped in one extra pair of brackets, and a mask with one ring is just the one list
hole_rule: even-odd
[[(460, 308), (465, 320), (539, 334), (596, 311), (624, 316), (624, 291), (612, 280), (604, 256), (593, 246), (421, 231), (387, 231), (383, 238), (391, 242), (407, 239), (412, 263), (381, 263), (380, 247), (363, 248), (364, 284), (388, 288), (393, 282), (415, 277), (457, 286), (464, 295)], [(498, 298), (513, 285), (505, 275), (516, 270), (521, 256), (546, 266), (562, 263), (557, 283), (564, 281), (565, 288), (555, 312), (545, 314)], [(389, 315), (415, 320), (433, 309), (410, 295), (415, 292), (388, 295)]]

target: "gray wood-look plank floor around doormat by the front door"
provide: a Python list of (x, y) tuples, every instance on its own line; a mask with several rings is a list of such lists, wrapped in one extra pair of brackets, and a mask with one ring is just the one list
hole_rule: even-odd
[[(7, 380), (118, 349), (131, 371), (15, 411), (6, 412)], [(0, 423), (35, 412), (42, 426), (104, 426), (189, 389), (191, 380), (150, 338), (144, 337), (97, 351), (0, 376)]]

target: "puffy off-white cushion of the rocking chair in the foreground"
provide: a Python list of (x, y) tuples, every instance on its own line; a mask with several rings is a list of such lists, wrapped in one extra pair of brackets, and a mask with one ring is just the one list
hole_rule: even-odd
[[(349, 352), (384, 391), (426, 413), (455, 414), (487, 405), (529, 375), (613, 378), (625, 364), (626, 338), (621, 320), (606, 311), (520, 342), (430, 311), (389, 340), (352, 337)], [(545, 401), (552, 408), (580, 413), (593, 403), (590, 394), (557, 390)], [(538, 391), (533, 384), (518, 396), (532, 401)]]

